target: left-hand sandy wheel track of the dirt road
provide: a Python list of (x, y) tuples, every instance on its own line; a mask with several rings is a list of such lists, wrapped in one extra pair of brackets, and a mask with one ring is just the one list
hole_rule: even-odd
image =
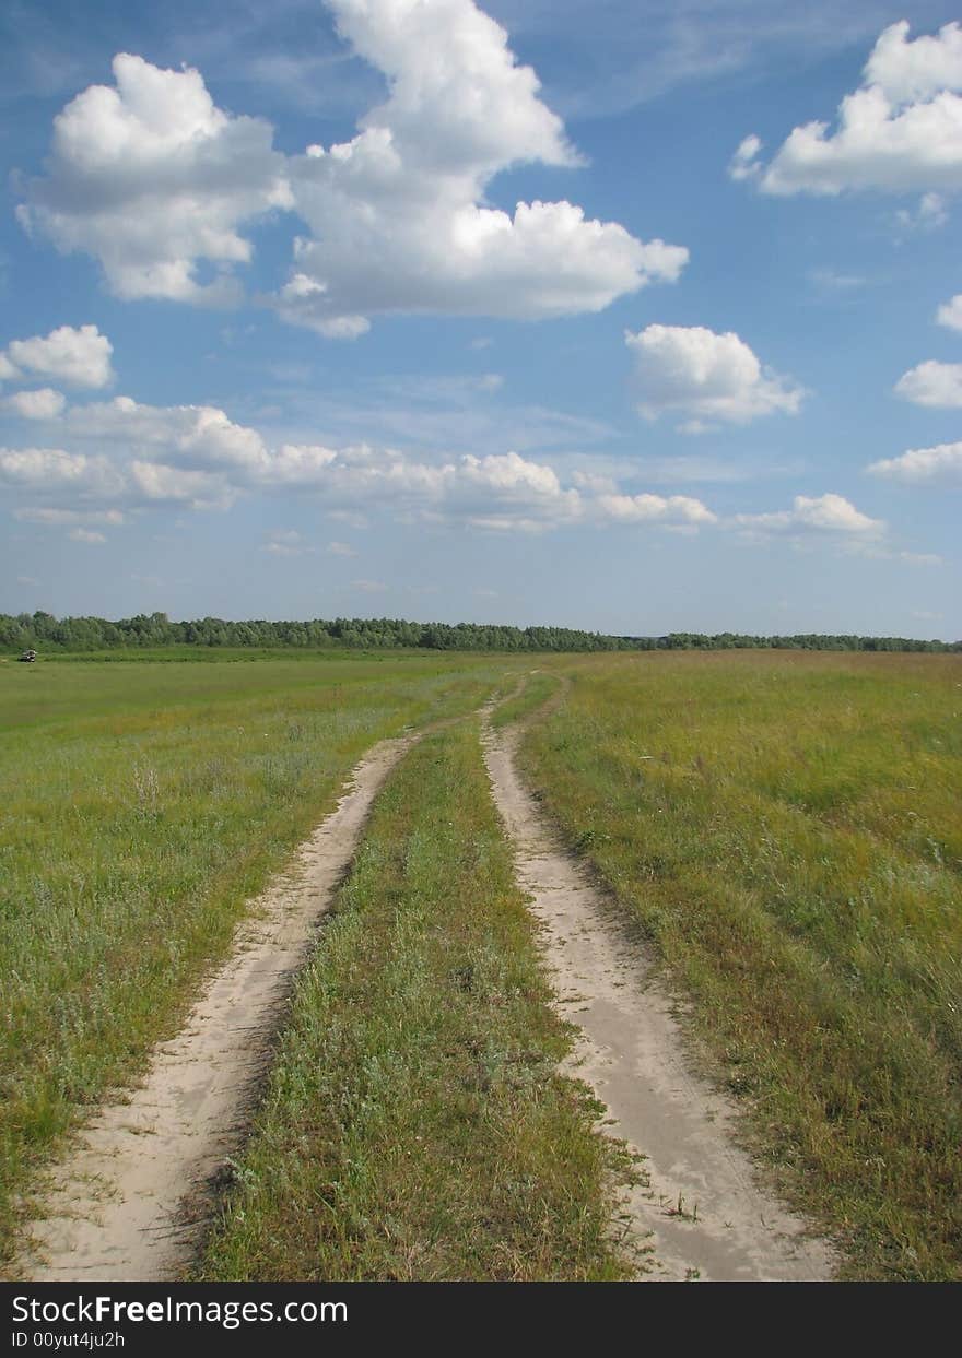
[(102, 1107), (50, 1175), (20, 1272), (34, 1282), (175, 1279), (194, 1258), (213, 1181), (243, 1139), (291, 982), (346, 870), (371, 803), (417, 735), (356, 766), (337, 808), (238, 926), (230, 959), (162, 1043), (129, 1103)]

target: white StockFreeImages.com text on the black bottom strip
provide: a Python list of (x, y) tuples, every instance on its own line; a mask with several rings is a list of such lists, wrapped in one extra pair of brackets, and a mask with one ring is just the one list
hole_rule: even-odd
[[(79, 1293), (67, 1301), (22, 1296), (12, 1298), (14, 1325), (126, 1325), (126, 1324), (200, 1324), (239, 1329), (250, 1324), (345, 1324), (344, 1301), (179, 1301), (158, 1297), (154, 1301), (120, 1301), (110, 1296), (84, 1297)], [(39, 1331), (34, 1331), (38, 1334)], [(14, 1347), (31, 1342), (26, 1329), (14, 1329)], [(35, 1343), (35, 1340), (34, 1340)], [(53, 1343), (50, 1347), (54, 1346)]]

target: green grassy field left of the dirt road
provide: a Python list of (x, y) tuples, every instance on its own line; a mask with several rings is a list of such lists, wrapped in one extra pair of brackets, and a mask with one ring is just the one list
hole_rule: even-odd
[(0, 1259), (31, 1172), (174, 1031), (361, 752), (510, 665), (0, 664)]

